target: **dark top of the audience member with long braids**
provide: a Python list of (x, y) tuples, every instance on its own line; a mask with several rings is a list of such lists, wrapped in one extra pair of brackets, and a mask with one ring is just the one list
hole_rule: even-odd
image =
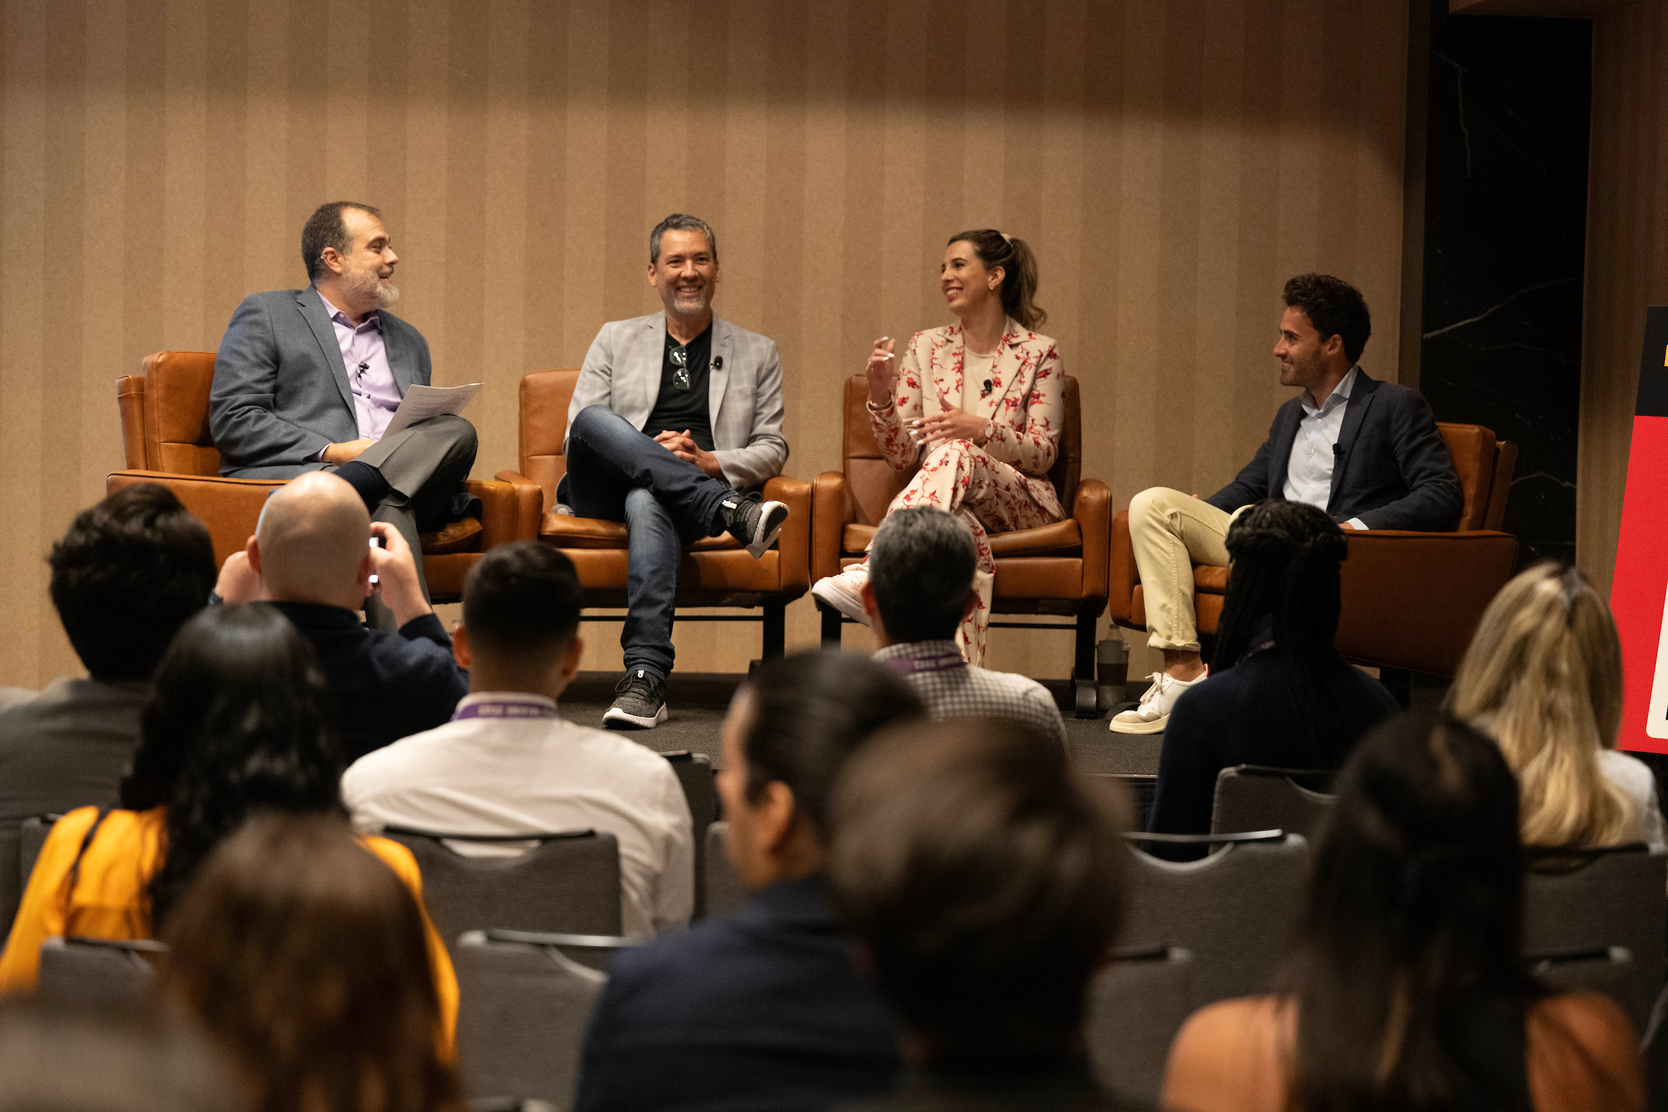
[[(1401, 709), (1383, 684), (1344, 660), (1326, 669), (1324, 682), (1338, 709), (1346, 750)], [(1311, 767), (1298, 709), (1279, 670), (1279, 647), (1251, 654), (1176, 700), (1164, 727), (1148, 830), (1209, 834), (1216, 774), (1233, 765)], [(1148, 844), (1148, 849), (1174, 860), (1203, 857), (1191, 845)]]

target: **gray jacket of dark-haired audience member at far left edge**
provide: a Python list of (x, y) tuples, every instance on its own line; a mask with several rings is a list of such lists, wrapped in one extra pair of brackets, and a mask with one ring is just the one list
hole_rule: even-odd
[(0, 714), (0, 825), (113, 807), (148, 684), (53, 680)]

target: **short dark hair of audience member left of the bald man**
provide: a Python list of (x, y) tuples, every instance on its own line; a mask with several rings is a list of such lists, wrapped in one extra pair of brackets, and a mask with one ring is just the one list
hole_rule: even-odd
[(52, 605), (87, 672), (148, 680), (214, 590), (208, 528), (160, 483), (133, 483), (75, 515), (52, 545)]

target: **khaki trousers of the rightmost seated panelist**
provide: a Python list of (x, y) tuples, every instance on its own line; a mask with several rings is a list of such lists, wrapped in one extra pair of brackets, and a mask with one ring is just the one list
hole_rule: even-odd
[(1248, 507), (1224, 513), (1204, 498), (1149, 487), (1129, 500), (1129, 543), (1141, 570), (1148, 645), (1199, 650), (1193, 610), (1193, 565), (1228, 567), (1228, 525)]

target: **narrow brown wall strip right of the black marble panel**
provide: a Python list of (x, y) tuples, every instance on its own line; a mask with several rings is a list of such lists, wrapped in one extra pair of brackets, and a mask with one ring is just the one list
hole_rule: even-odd
[(1576, 560), (1610, 592), (1645, 307), (1668, 305), (1668, 0), (1593, 20)]

